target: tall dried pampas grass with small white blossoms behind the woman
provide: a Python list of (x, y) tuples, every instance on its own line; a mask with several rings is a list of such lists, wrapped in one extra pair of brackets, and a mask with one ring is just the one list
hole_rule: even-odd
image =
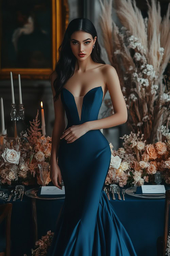
[(103, 43), (119, 76), (129, 112), (127, 124), (134, 133), (144, 134), (147, 143), (162, 141), (157, 128), (164, 125), (168, 132), (170, 124), (170, 83), (164, 75), (170, 56), (170, 3), (162, 19), (160, 3), (156, 6), (151, 0), (150, 6), (147, 1), (148, 17), (143, 18), (134, 0), (115, 0), (121, 28), (112, 19), (113, 0), (100, 3)]

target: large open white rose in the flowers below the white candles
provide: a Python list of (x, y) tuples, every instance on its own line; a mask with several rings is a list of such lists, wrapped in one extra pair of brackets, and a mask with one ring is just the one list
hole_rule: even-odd
[(15, 151), (13, 149), (6, 148), (1, 154), (5, 162), (16, 163), (18, 165), (20, 158), (20, 151)]

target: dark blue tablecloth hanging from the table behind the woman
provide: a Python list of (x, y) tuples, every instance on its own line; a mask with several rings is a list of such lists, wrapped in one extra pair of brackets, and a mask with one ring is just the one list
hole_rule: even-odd
[[(166, 189), (170, 186), (165, 184)], [(31, 186), (26, 187), (27, 189)], [(70, 196), (71, 198), (71, 196)], [(165, 198), (147, 199), (137, 198), (125, 194), (125, 201), (112, 199), (110, 203), (115, 213), (129, 233), (138, 256), (156, 256), (156, 242), (159, 236), (163, 236)], [(23, 196), (22, 201), (13, 203), (11, 216), (11, 256), (31, 255), (34, 248), (32, 230), (31, 198)], [(38, 239), (44, 236), (48, 230), (54, 231), (57, 216), (64, 203), (64, 199), (46, 200), (37, 199), (37, 223)]]

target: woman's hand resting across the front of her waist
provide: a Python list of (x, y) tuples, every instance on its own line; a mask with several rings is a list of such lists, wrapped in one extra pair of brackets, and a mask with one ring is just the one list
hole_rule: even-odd
[(67, 141), (67, 143), (71, 143), (80, 138), (87, 131), (89, 131), (89, 129), (86, 123), (83, 123), (81, 125), (72, 125), (63, 132), (63, 135), (60, 139), (64, 138)]

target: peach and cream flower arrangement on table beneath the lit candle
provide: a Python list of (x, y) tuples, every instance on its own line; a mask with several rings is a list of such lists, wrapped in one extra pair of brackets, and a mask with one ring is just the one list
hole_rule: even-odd
[[(30, 121), (30, 130), (20, 133), (20, 145), (6, 148), (0, 152), (0, 177), (2, 183), (42, 185), (38, 163), (50, 162), (51, 137), (42, 136), (38, 128), (38, 111), (35, 120)], [(50, 169), (50, 167), (49, 167)], [(50, 172), (46, 185), (50, 182)]]

